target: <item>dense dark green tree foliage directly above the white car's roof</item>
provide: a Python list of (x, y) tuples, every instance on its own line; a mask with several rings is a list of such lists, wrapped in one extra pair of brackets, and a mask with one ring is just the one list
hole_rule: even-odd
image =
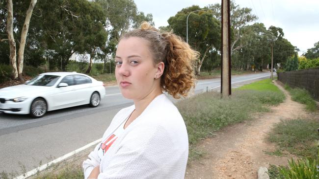
[(46, 0), (39, 3), (42, 34), (39, 41), (50, 59), (50, 68), (66, 70), (74, 53), (90, 53), (106, 42), (104, 24), (106, 16), (102, 7), (87, 0)]

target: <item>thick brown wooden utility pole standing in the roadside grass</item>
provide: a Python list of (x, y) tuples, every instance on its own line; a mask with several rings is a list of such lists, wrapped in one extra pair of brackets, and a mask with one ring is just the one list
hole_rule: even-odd
[(230, 48), (230, 0), (221, 1), (221, 94), (230, 96), (231, 90), (231, 48)]

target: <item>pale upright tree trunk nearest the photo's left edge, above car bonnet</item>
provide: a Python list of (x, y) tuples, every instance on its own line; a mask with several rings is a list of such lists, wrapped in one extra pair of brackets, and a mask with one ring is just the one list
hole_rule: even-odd
[(7, 34), (10, 45), (10, 65), (12, 67), (12, 79), (18, 78), (16, 42), (13, 37), (13, 4), (8, 0)]

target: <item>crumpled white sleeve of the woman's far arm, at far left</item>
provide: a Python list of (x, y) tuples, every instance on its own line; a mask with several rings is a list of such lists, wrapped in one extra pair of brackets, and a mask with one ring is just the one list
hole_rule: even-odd
[(100, 159), (98, 156), (98, 149), (99, 149), (100, 143), (96, 145), (94, 150), (89, 154), (88, 158), (84, 160), (82, 167), (84, 170), (84, 179), (87, 179), (87, 177), (91, 174), (94, 167), (100, 165)]

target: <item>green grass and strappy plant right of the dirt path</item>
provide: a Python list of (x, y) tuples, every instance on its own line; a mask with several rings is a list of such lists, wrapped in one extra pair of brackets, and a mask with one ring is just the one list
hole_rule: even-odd
[(283, 120), (276, 124), (268, 140), (277, 144), (279, 151), (299, 157), (289, 160), (289, 166), (270, 165), (270, 179), (318, 179), (319, 121), (314, 119)]

